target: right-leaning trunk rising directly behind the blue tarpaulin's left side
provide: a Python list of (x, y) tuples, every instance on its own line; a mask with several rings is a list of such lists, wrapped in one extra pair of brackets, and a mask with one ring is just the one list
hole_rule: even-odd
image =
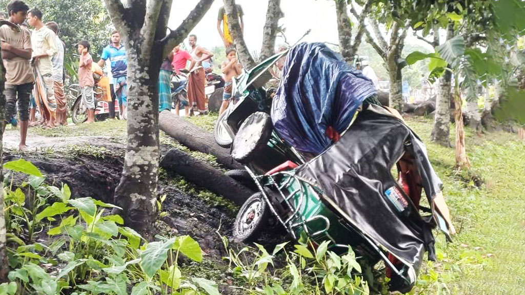
[(275, 54), (275, 38), (279, 19), (283, 16), (281, 11), (281, 0), (269, 0), (266, 12), (266, 23), (262, 33), (262, 49), (260, 60), (265, 60)]

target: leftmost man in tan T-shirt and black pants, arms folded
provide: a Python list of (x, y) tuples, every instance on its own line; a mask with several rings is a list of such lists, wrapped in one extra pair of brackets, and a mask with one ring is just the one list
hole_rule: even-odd
[[(11, 0), (7, 4), (9, 22), (21, 25), (26, 19), (29, 7), (20, 0)], [(20, 144), (18, 148), (26, 148), (27, 123), (29, 119), (29, 97), (33, 90), (33, 71), (29, 64), (31, 59), (31, 35), (29, 30), (20, 26), (19, 29), (3, 25), (0, 27), (0, 43), (2, 59), (5, 65), (5, 97), (6, 119), (15, 114), (15, 103), (18, 99), (20, 116)], [(2, 122), (5, 128), (6, 122)]]

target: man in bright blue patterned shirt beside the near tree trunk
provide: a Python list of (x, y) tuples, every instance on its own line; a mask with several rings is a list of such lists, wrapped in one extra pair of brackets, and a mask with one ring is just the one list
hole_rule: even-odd
[(127, 106), (127, 82), (128, 62), (126, 59), (126, 49), (120, 44), (120, 34), (118, 31), (111, 33), (111, 44), (104, 47), (102, 56), (98, 64), (102, 68), (107, 59), (111, 61), (111, 75), (113, 75), (113, 88), (115, 96), (119, 100), (120, 114), (126, 118)]

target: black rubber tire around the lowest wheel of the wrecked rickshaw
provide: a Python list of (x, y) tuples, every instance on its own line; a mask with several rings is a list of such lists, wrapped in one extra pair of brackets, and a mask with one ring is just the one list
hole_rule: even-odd
[[(261, 204), (261, 213), (260, 217), (255, 220), (256, 224), (246, 233), (241, 234), (239, 233), (239, 225), (242, 222), (240, 219), (245, 216), (245, 211), (250, 208), (251, 205), (254, 204), (254, 202), (260, 202)], [(260, 233), (262, 230), (265, 229), (265, 227), (268, 224), (268, 220), (270, 218), (270, 207), (268, 204), (266, 204), (265, 199), (262, 197), (262, 193), (258, 192), (253, 195), (251, 195), (246, 202), (244, 202), (243, 206), (240, 207), (239, 212), (237, 213), (237, 216), (235, 217), (235, 223), (233, 228), (233, 238), (234, 240), (242, 243), (248, 243), (250, 241), (254, 241), (257, 239), (257, 237), (260, 236)]]

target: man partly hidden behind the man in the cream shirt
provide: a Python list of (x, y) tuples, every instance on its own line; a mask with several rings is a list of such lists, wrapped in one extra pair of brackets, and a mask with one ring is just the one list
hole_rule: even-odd
[(58, 38), (57, 23), (48, 22), (46, 27), (55, 33), (55, 43), (57, 44), (57, 54), (51, 58), (51, 64), (53, 64), (53, 86), (55, 100), (57, 101), (55, 125), (67, 125), (67, 99), (64, 93), (64, 55), (66, 54), (66, 44)]

